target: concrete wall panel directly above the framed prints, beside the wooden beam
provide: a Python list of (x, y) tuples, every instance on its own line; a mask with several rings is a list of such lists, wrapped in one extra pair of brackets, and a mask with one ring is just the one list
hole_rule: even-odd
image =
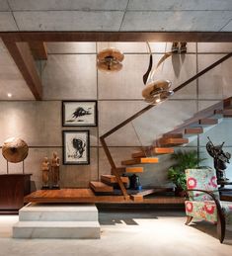
[(49, 55), (42, 69), (43, 99), (95, 100), (95, 55)]

